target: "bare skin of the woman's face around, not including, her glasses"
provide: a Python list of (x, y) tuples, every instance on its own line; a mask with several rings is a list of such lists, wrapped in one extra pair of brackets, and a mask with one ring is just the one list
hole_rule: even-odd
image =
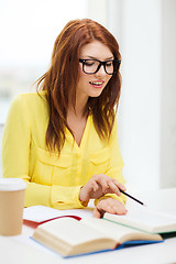
[[(108, 59), (113, 59), (114, 57), (108, 46), (101, 42), (94, 41), (81, 47), (79, 58), (98, 59), (105, 62)], [(99, 97), (112, 77), (112, 75), (108, 75), (105, 72), (102, 65), (96, 74), (89, 75), (82, 72), (82, 64), (79, 63), (79, 81), (76, 92), (77, 97), (86, 101), (89, 97)]]

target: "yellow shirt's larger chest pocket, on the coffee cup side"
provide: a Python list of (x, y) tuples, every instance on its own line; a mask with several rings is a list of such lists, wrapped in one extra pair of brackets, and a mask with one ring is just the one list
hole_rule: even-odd
[(72, 170), (72, 156), (36, 147), (36, 163), (32, 182), (43, 185), (67, 186)]

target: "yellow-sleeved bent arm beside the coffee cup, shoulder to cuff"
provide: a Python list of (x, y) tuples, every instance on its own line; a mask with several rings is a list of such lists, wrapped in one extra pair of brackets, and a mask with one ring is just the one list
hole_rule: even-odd
[(78, 198), (80, 186), (63, 187), (32, 180), (32, 163), (35, 165), (36, 162), (33, 161), (32, 144), (30, 112), (24, 98), (19, 96), (11, 105), (3, 130), (3, 177), (18, 177), (28, 183), (25, 207), (43, 205), (57, 209), (82, 208)]

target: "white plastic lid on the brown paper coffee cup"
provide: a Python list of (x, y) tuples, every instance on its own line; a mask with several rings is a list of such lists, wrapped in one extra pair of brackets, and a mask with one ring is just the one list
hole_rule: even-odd
[(0, 190), (22, 190), (26, 183), (21, 178), (0, 178)]

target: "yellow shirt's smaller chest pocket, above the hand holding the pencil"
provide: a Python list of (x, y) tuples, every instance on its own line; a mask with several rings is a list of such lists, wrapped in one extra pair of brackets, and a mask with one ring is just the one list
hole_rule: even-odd
[(108, 147), (89, 153), (89, 169), (91, 176), (95, 174), (106, 174), (109, 167), (109, 161), (110, 155)]

